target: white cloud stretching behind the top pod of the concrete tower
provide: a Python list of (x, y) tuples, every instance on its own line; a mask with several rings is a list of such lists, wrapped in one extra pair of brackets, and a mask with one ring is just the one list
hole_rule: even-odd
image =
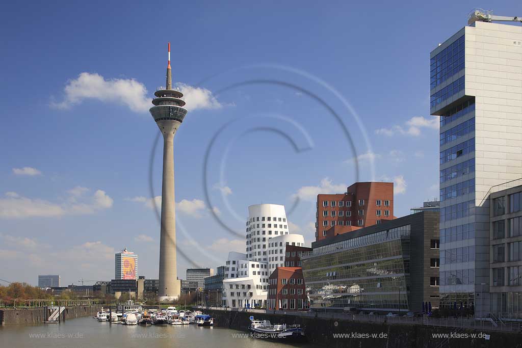
[[(184, 94), (187, 107), (196, 109), (218, 109), (222, 105), (212, 92), (205, 88), (192, 87), (178, 83)], [(135, 79), (105, 79), (97, 73), (80, 73), (76, 79), (69, 80), (64, 88), (61, 102), (51, 102), (57, 109), (68, 109), (86, 99), (127, 106), (134, 112), (147, 112), (151, 98), (145, 85)]]

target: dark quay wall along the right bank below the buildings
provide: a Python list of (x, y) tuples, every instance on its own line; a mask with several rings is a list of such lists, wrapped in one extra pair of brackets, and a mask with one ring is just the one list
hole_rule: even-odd
[[(205, 314), (214, 318), (215, 326), (234, 330), (248, 331), (251, 315), (255, 319), (267, 319), (272, 323), (300, 324), (305, 329), (306, 338), (310, 343), (328, 348), (489, 348), (489, 347), (522, 347), (522, 335), (507, 332), (490, 332), (490, 339), (484, 338), (454, 338), (445, 340), (433, 338), (432, 334), (452, 333), (476, 334), (480, 331), (461, 330), (457, 328), (430, 327), (420, 325), (387, 324), (378, 322), (358, 322), (343, 319), (324, 319), (313, 317), (294, 316), (291, 314), (258, 314), (240, 311), (223, 311), (205, 309)], [(347, 334), (351, 337), (336, 338), (334, 334)], [(371, 335), (377, 334), (373, 338)], [(384, 338), (386, 334), (386, 338)], [(365, 337), (369, 335), (369, 337)], [(379, 337), (380, 336), (380, 337)]]

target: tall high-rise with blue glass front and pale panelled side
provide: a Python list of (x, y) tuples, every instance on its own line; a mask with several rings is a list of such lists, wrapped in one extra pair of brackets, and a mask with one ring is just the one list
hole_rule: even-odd
[(489, 194), (522, 176), (522, 27), (470, 14), (431, 54), (440, 128), (441, 306), (490, 313)]

